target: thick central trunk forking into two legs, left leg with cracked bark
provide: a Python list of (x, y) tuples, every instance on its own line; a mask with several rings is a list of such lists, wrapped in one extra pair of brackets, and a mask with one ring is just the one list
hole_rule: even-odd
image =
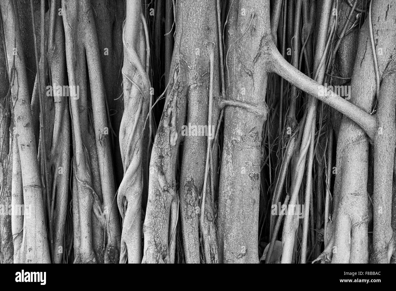
[[(218, 74), (214, 70), (210, 71), (208, 61), (210, 49), (217, 53), (214, 45), (217, 43), (214, 7), (215, 1), (204, 1), (198, 6), (177, 2), (175, 8), (177, 25), (166, 105), (151, 153), (143, 262), (173, 262), (172, 245), (175, 240), (179, 197), (186, 262), (200, 262), (199, 196), (202, 190), (206, 191), (202, 189), (208, 146), (205, 137), (184, 137), (184, 148), (187, 151), (183, 151), (179, 197), (175, 188), (175, 170), (179, 143), (183, 139), (183, 125), (198, 127), (208, 124), (209, 77), (214, 74), (213, 79), (218, 80)], [(195, 31), (196, 35), (185, 34), (185, 31)], [(218, 96), (218, 81), (213, 84), (211, 93)], [(211, 117), (214, 127), (217, 124), (216, 112), (214, 109)], [(208, 197), (209, 194), (211, 193), (208, 193)], [(205, 200), (207, 205), (203, 218), (206, 230), (203, 233), (206, 233), (204, 236), (210, 234), (211, 243), (216, 245), (214, 228), (210, 226), (214, 219), (209, 201), (210, 199)], [(210, 244), (210, 240), (204, 240), (204, 243)], [(208, 247), (205, 252), (206, 261), (216, 261), (217, 250), (209, 251), (210, 249)]]

